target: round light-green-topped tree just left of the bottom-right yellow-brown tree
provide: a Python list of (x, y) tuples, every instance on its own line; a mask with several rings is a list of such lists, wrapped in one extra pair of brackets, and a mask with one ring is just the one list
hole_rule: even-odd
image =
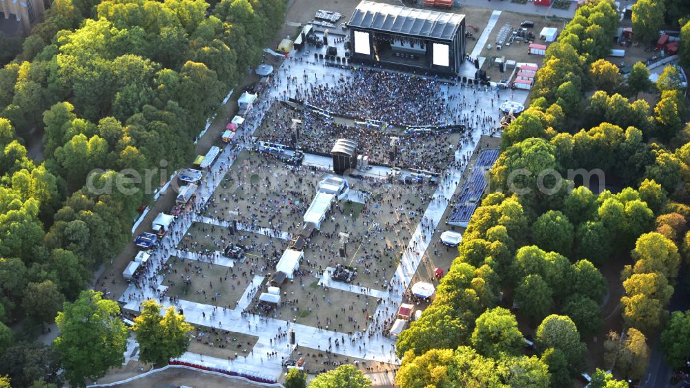
[(586, 351), (573, 320), (555, 314), (544, 318), (537, 328), (537, 346), (540, 349), (560, 349), (572, 365), (580, 365)]

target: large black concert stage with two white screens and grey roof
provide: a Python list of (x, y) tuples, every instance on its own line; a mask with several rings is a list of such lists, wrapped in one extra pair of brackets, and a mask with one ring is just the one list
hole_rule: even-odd
[(462, 14), (362, 1), (347, 26), (353, 62), (455, 76), (465, 58)]

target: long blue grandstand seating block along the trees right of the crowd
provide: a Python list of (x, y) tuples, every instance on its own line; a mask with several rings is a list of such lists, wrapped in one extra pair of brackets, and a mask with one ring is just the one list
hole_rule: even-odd
[(495, 149), (484, 150), (477, 157), (475, 166), (469, 178), (460, 189), (460, 197), (453, 206), (453, 211), (448, 216), (449, 224), (467, 224), (480, 204), (484, 190), (486, 189), (486, 171), (493, 166), (498, 159), (499, 151)]

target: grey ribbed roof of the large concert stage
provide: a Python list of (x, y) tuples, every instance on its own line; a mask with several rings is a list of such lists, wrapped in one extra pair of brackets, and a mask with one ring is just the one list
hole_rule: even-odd
[(453, 40), (462, 19), (462, 14), (362, 1), (347, 25), (422, 38)]

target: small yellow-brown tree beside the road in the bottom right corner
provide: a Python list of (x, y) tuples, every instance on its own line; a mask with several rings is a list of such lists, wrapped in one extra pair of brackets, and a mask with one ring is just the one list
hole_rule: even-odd
[(612, 331), (604, 342), (604, 350), (604, 358), (615, 364), (615, 370), (622, 376), (633, 380), (644, 376), (649, 362), (649, 346), (647, 338), (637, 329), (629, 328), (624, 338)]

